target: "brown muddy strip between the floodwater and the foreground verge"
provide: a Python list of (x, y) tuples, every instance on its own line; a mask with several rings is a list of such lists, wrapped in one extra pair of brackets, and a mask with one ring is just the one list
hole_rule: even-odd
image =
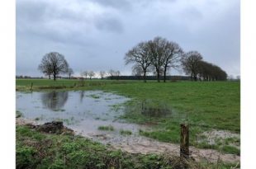
[[(32, 126), (37, 126), (36, 128), (43, 129), (43, 131), (55, 130), (52, 129), (55, 125), (51, 123), (48, 124), (38, 124), (36, 121), (33, 120), (26, 120), (24, 118), (18, 118), (17, 125), (24, 125), (29, 124)], [(50, 126), (50, 128), (47, 127)], [(59, 126), (56, 125), (56, 126)], [(72, 131), (72, 129), (68, 129), (60, 124), (60, 129), (64, 129), (64, 131)], [(60, 132), (61, 133), (61, 132)], [(115, 138), (110, 134), (90, 134), (84, 135), (83, 133), (78, 133), (74, 131), (74, 134), (80, 134), (84, 137), (91, 138), (92, 140), (97, 140), (104, 144), (111, 145), (112, 148), (121, 149), (126, 151), (127, 153), (141, 153), (141, 154), (148, 154), (148, 153), (168, 153), (173, 154), (174, 156), (179, 156), (179, 145), (174, 143), (162, 143), (156, 141), (151, 138), (145, 138), (139, 135), (129, 135), (129, 136), (121, 136), (119, 138)], [(201, 160), (206, 160), (207, 162), (227, 162), (227, 163), (238, 163), (240, 161), (240, 157), (235, 154), (225, 154), (217, 152), (216, 150), (212, 149), (201, 149), (201, 148), (194, 148), (190, 147), (191, 157), (196, 160), (197, 162)]]

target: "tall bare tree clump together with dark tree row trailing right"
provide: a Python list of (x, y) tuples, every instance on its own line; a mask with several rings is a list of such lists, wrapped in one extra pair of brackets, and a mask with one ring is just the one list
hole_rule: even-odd
[(158, 82), (160, 82), (160, 76), (164, 76), (164, 82), (166, 82), (168, 71), (179, 67), (183, 67), (183, 71), (194, 81), (197, 79), (226, 80), (227, 77), (220, 67), (203, 61), (199, 52), (185, 53), (176, 42), (159, 36), (154, 40), (142, 41), (135, 45), (126, 53), (124, 59), (126, 64), (133, 64), (133, 75), (142, 75), (144, 82), (149, 72), (157, 77)]

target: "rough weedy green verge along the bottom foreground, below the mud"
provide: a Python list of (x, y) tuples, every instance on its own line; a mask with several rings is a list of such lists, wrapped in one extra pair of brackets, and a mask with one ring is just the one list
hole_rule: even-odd
[[(170, 154), (130, 154), (87, 138), (45, 134), (17, 126), (17, 168), (177, 168), (179, 157)], [(190, 162), (190, 168), (230, 168), (235, 164)]]

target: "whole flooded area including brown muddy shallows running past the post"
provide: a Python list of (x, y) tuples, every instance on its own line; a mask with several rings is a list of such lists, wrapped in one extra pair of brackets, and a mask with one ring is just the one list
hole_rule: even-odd
[[(109, 143), (113, 148), (121, 148), (129, 153), (172, 153), (178, 156), (177, 144), (161, 143), (139, 135), (140, 129), (149, 129), (148, 125), (127, 124), (118, 118), (134, 110), (139, 110), (148, 117), (173, 115), (173, 111), (163, 104), (152, 106), (153, 101), (142, 101), (135, 106), (122, 106), (129, 100), (124, 96), (102, 91), (17, 92), (16, 106), (28, 120), (36, 120), (38, 124), (61, 120), (77, 134), (100, 143)], [(114, 131), (98, 130), (99, 126), (107, 125), (113, 126)], [(121, 135), (121, 129), (130, 130), (132, 134)], [(192, 148), (192, 157), (196, 160), (203, 157), (211, 160), (209, 162), (239, 162), (239, 156), (220, 155), (211, 149)]]

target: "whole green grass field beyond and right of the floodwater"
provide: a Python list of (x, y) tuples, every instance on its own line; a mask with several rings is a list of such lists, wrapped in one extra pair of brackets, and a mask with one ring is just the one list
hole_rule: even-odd
[[(103, 90), (130, 97), (121, 118), (138, 124), (150, 124), (153, 130), (140, 134), (164, 142), (179, 142), (182, 122), (190, 124), (190, 142), (209, 129), (240, 131), (240, 83), (239, 82), (142, 82), (116, 80), (34, 80), (17, 79), (17, 91), (33, 90)], [(167, 115), (143, 115), (141, 104), (148, 101), (151, 107), (168, 107)], [(129, 107), (132, 107), (130, 109)], [(156, 109), (151, 109), (156, 110)], [(217, 147), (217, 149), (220, 146)], [(223, 147), (222, 147), (223, 148)], [(229, 148), (224, 148), (229, 149)], [(225, 150), (224, 150), (225, 151)]]

